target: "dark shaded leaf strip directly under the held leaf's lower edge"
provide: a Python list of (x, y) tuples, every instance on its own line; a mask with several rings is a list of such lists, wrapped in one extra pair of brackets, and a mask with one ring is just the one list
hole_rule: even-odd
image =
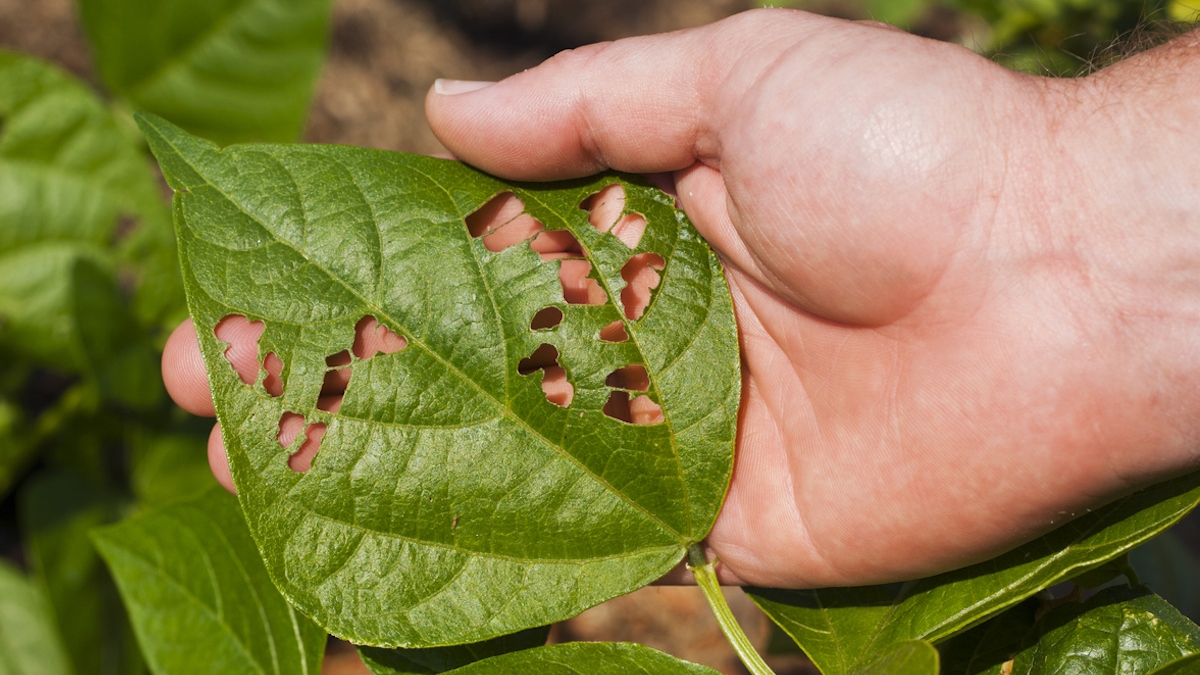
[(488, 657), (545, 645), (548, 637), (550, 626), (542, 626), (484, 643), (451, 647), (359, 647), (359, 656), (374, 675), (439, 675)]

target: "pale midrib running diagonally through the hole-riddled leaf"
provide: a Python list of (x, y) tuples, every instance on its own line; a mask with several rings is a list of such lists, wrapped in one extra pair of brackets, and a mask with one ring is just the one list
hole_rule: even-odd
[[(358, 300), (360, 303), (362, 303), (362, 305), (365, 305), (370, 311), (378, 313), (378, 316), (380, 316), (383, 318), (386, 318), (392, 325), (395, 325), (397, 328), (400, 328), (401, 325), (403, 325), (401, 322), (396, 321), (390, 315), (390, 312), (386, 312), (382, 307), (376, 306), (374, 303), (368, 301), (366, 298), (362, 297), (361, 293), (358, 292), (356, 288), (349, 286), (348, 283), (346, 283), (346, 281), (343, 281), (338, 276), (334, 275), (331, 271), (329, 271), (328, 269), (325, 269), (322, 264), (319, 264), (316, 261), (313, 261), (312, 258), (310, 258), (305, 253), (305, 251), (300, 250), (295, 244), (293, 244), (292, 241), (289, 241), (287, 239), (281, 238), (278, 235), (278, 233), (276, 233), (274, 229), (271, 229), (270, 227), (268, 227), (266, 223), (262, 222), (253, 214), (248, 213), (230, 195), (226, 193), (224, 190), (222, 190), (220, 186), (217, 186), (211, 180), (209, 180), (209, 178), (194, 163), (192, 163), (191, 160), (188, 157), (186, 157), (170, 139), (168, 139), (166, 136), (162, 136), (161, 133), (160, 133), (160, 137), (162, 137), (163, 141), (168, 145), (170, 145), (172, 149), (175, 150), (175, 155), (181, 161), (184, 161), (196, 173), (197, 177), (199, 177), (202, 180), (204, 180), (205, 185), (208, 185), (212, 190), (216, 190), (218, 195), (221, 195), (222, 197), (224, 197), (230, 204), (235, 205), (238, 208), (238, 210), (241, 211), (246, 217), (248, 217), (250, 220), (252, 220), (253, 222), (256, 222), (259, 227), (262, 227), (264, 231), (266, 231), (272, 237), (275, 237), (275, 239), (280, 244), (282, 244), (282, 245), (287, 246), (288, 249), (292, 249), (293, 251), (295, 251), (295, 253), (299, 255), (301, 258), (304, 258), (308, 264), (313, 265), (316, 269), (318, 269), (322, 273), (324, 273), (326, 277), (329, 277), (331, 281), (334, 281), (338, 286), (346, 288), (347, 292), (349, 292), (352, 295), (354, 295), (355, 298), (358, 298)], [(222, 151), (220, 149), (212, 149), (210, 151), (212, 151), (216, 155), (221, 155), (222, 154)], [(272, 157), (270, 155), (268, 155), (268, 156), (271, 157), (272, 160), (275, 160), (276, 162), (278, 162), (278, 159)], [(278, 162), (278, 163), (280, 163), (281, 168), (283, 168), (283, 171), (287, 172), (287, 174), (289, 177), (292, 177), (292, 171), (288, 169), (287, 166), (283, 166), (282, 162)], [(344, 168), (344, 166), (343, 166), (343, 168)], [(456, 203), (455, 199), (454, 199), (454, 196), (450, 195), (450, 192), (446, 191), (446, 189), (440, 183), (438, 183), (436, 180), (432, 180), (432, 178), (430, 178), (425, 173), (421, 173), (419, 169), (414, 169), (414, 171), (416, 171), (416, 173), (420, 173), (421, 175), (424, 175), (427, 179), (430, 179), (433, 183), (433, 185), (437, 186), (438, 190), (440, 190), (446, 196), (448, 199), (450, 199), (450, 203)], [(354, 174), (348, 172), (348, 175), (349, 175), (350, 180), (354, 183), (355, 189), (359, 190), (359, 193), (364, 198), (366, 198), (365, 193), (362, 192), (362, 187), (358, 184), (358, 179), (354, 177)], [(293, 179), (293, 185), (296, 185), (295, 181), (294, 181), (294, 179)], [(296, 189), (299, 191), (299, 185), (296, 185)], [(307, 222), (307, 217), (306, 217), (306, 222)], [(377, 223), (374, 223), (374, 225), (378, 227)], [(382, 233), (380, 233), (380, 237), (382, 237)], [(617, 490), (616, 488), (613, 488), (607, 480), (605, 480), (601, 477), (596, 476), (595, 472), (593, 472), (590, 468), (588, 468), (577, 458), (575, 458), (570, 453), (563, 450), (558, 446), (554, 446), (553, 443), (551, 443), (548, 438), (546, 438), (545, 436), (542, 436), (541, 434), (539, 434), (535, 429), (533, 429), (532, 426), (529, 426), (529, 424), (524, 419), (521, 419), (520, 417), (512, 414), (512, 412), (508, 407), (505, 407), (504, 405), (502, 405), (500, 401), (497, 401), (496, 398), (492, 396), (490, 393), (485, 392), (474, 380), (472, 380), (470, 377), (467, 377), (467, 375), (463, 374), (455, 364), (445, 360), (442, 357), (442, 354), (439, 354), (436, 351), (433, 351), (432, 348), (430, 348), (424, 341), (416, 339), (415, 335), (413, 335), (410, 330), (407, 330), (407, 329), (402, 329), (402, 330), (408, 334), (407, 336), (410, 339), (410, 341), (413, 344), (420, 346), (431, 357), (433, 357), (434, 359), (437, 359), (438, 362), (440, 362), (448, 370), (452, 371), (463, 382), (466, 382), (470, 387), (473, 387), (476, 392), (479, 392), (479, 394), (481, 396), (484, 396), (485, 399), (490, 400), (497, 408), (499, 408), (502, 414), (509, 417), (515, 423), (517, 423), (518, 425), (521, 425), (534, 438), (540, 440), (542, 443), (545, 443), (547, 447), (550, 447), (553, 452), (556, 452), (557, 454), (559, 454), (560, 456), (563, 456), (568, 461), (575, 464), (580, 468), (580, 471), (582, 471), (587, 476), (592, 477), (593, 480), (595, 480), (596, 483), (599, 483), (600, 485), (602, 485), (604, 488), (606, 488), (608, 492), (616, 495), (620, 501), (625, 502), (626, 504), (629, 504), (630, 507), (632, 507), (635, 510), (641, 512), (647, 519), (649, 519), (649, 520), (654, 521), (655, 524), (658, 524), (659, 527), (661, 527), (664, 531), (666, 531), (670, 534), (673, 534), (676, 537), (676, 539), (678, 539), (678, 542), (679, 542), (680, 545), (685, 546), (689, 543), (691, 543), (688, 537), (684, 537), (680, 532), (676, 531), (673, 527), (671, 527), (670, 525), (667, 525), (666, 522), (664, 522), (659, 516), (656, 516), (655, 514), (650, 513), (646, 507), (643, 507), (642, 504), (640, 504), (636, 501), (631, 500), (628, 495), (625, 495), (620, 490)]]

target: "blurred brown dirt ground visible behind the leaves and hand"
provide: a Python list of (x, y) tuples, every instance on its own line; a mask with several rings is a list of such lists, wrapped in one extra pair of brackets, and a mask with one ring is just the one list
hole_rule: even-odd
[[(330, 58), (305, 141), (410, 153), (444, 151), (425, 124), (439, 77), (499, 79), (556, 52), (710, 23), (750, 0), (337, 0)], [(0, 47), (55, 61), (97, 85), (71, 0), (0, 0)], [(760, 649), (766, 616), (740, 590), (727, 597)], [(552, 641), (638, 641), (722, 673), (745, 673), (695, 587), (652, 586), (554, 627)], [(815, 674), (774, 656), (779, 675)], [(331, 641), (325, 675), (364, 675), (349, 645)]]

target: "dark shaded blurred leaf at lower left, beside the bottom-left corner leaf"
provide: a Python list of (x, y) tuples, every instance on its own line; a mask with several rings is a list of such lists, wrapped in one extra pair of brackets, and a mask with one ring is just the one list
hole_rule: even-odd
[(125, 611), (88, 537), (115, 519), (115, 503), (70, 473), (42, 473), (20, 496), (26, 552), (76, 673), (140, 673)]

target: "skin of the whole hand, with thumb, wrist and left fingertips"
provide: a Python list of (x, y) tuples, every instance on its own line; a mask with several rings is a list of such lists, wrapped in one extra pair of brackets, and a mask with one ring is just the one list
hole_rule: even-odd
[[(442, 83), (427, 114), (505, 178), (673, 180), (742, 333), (722, 580), (859, 585), (1200, 467), (1198, 60), (1192, 34), (1051, 80), (761, 10)], [(190, 324), (163, 377), (212, 413)]]

